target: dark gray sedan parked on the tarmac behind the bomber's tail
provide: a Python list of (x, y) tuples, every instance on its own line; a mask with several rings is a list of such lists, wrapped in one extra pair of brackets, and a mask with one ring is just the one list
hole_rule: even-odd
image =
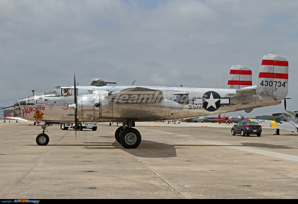
[(249, 136), (250, 134), (257, 134), (261, 136), (262, 126), (253, 121), (241, 121), (232, 127), (232, 135), (241, 134), (241, 136)]

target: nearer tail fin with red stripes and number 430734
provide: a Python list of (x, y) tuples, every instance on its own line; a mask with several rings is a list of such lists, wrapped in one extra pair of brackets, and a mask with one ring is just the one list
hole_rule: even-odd
[(265, 55), (256, 93), (264, 101), (279, 101), (288, 95), (288, 60), (278, 55)]

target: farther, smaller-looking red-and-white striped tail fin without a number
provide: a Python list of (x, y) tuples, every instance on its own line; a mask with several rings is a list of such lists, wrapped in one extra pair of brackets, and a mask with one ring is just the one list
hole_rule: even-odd
[(252, 70), (241, 65), (232, 66), (227, 88), (244, 88), (252, 85)]

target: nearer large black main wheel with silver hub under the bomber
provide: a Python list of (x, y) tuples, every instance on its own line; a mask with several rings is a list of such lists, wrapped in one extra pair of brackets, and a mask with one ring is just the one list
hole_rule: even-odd
[(120, 144), (125, 149), (135, 149), (141, 143), (141, 134), (135, 128), (126, 128), (120, 133)]

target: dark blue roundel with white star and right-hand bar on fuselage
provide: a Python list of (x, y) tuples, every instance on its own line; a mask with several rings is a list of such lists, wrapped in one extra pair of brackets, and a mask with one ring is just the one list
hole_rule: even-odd
[(215, 91), (207, 91), (203, 95), (203, 108), (206, 111), (216, 111), (221, 105), (230, 104), (230, 98), (221, 98)]

